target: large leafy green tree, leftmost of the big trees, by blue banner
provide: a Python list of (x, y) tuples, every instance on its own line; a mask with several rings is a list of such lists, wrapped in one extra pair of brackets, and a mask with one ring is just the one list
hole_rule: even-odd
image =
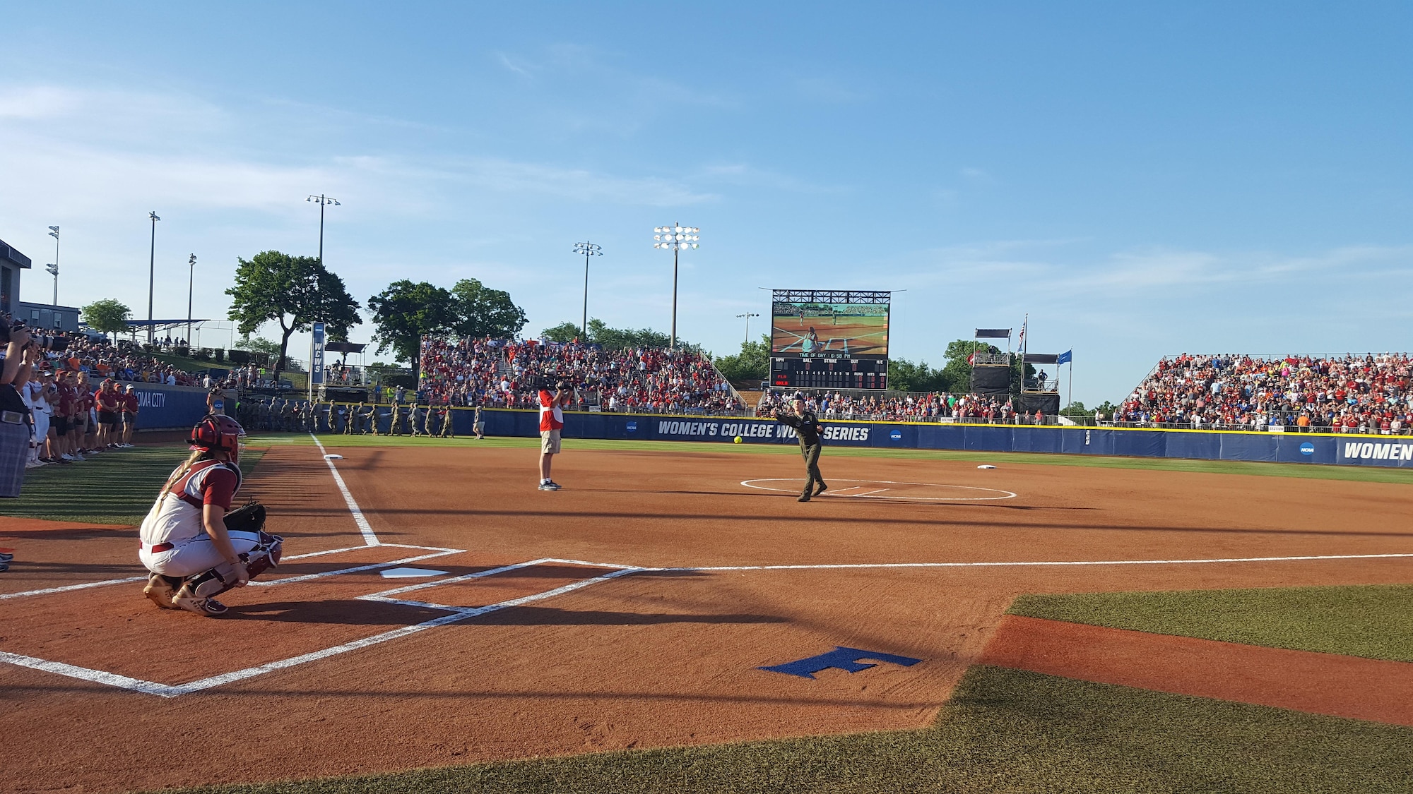
[(249, 336), (266, 322), (280, 325), (280, 357), (274, 380), (285, 369), (290, 336), (322, 322), (331, 339), (348, 339), (349, 328), (363, 322), (359, 304), (343, 287), (343, 280), (324, 268), (317, 257), (260, 251), (237, 260), (236, 285), (230, 295), (227, 318)]

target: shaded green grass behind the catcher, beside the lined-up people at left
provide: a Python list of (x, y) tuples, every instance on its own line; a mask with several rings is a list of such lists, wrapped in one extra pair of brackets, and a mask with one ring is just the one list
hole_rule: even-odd
[[(138, 524), (167, 476), (191, 452), (187, 445), (134, 446), (92, 455), (82, 463), (30, 469), (18, 499), (0, 500), (0, 516)], [(264, 449), (247, 448), (240, 470), (254, 470)]]

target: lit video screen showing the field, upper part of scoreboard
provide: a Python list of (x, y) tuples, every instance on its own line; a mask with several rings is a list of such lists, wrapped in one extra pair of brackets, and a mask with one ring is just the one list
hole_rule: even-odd
[(771, 302), (770, 353), (801, 359), (887, 357), (889, 304)]

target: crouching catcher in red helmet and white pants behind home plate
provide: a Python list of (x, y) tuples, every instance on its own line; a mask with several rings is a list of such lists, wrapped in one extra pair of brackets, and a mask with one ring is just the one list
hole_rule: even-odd
[(143, 595), (162, 609), (223, 615), (218, 596), (278, 565), (284, 538), (266, 534), (264, 506), (227, 513), (240, 489), (236, 420), (211, 414), (191, 431), (192, 454), (167, 478), (140, 530), (151, 571)]

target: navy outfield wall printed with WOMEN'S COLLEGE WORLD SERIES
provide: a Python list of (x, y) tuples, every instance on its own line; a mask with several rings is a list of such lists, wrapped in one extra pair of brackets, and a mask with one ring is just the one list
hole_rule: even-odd
[[(472, 411), (452, 411), (456, 435), (471, 435)], [(485, 410), (487, 435), (537, 437), (540, 413)], [(825, 445), (894, 449), (971, 449), (1129, 455), (1198, 461), (1269, 461), (1413, 468), (1413, 437), (1147, 428), (968, 425), (825, 421)], [(739, 417), (565, 413), (564, 438), (796, 444), (794, 429)]]

